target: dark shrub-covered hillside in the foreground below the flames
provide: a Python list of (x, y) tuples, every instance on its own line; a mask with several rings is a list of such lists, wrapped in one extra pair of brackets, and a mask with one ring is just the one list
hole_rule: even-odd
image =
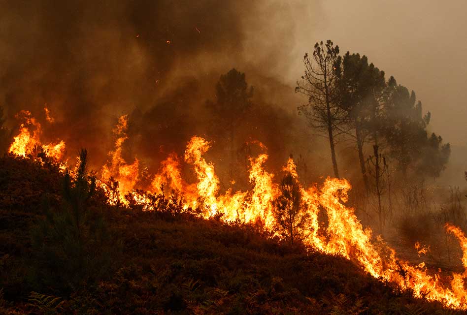
[(63, 181), (54, 165), (0, 159), (0, 314), (464, 314), (260, 225), (108, 206), (99, 191), (88, 208), (105, 233), (82, 252), (96, 263), (73, 269), (34, 243)]

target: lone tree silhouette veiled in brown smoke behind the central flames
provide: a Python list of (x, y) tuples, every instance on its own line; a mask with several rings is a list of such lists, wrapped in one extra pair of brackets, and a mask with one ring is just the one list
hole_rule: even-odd
[(245, 73), (235, 68), (221, 75), (216, 84), (216, 98), (208, 100), (207, 107), (212, 110), (215, 125), (227, 133), (228, 140), (234, 150), (234, 135), (238, 122), (252, 106), (253, 87), (248, 86)]

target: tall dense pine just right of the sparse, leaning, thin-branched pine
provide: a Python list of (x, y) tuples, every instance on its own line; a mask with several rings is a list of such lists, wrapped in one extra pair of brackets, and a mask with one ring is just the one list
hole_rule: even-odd
[(369, 189), (364, 145), (372, 138), (378, 145), (381, 97), (385, 87), (384, 72), (366, 56), (347, 52), (335, 65), (338, 105), (345, 112), (348, 134), (354, 139), (365, 188)]

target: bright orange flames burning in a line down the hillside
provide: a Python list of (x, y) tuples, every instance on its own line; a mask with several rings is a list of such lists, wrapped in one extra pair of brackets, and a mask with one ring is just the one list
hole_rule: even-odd
[[(25, 156), (33, 146), (39, 144), (40, 125), (29, 112), (23, 111), (20, 114), (24, 123), (20, 126), (20, 133), (14, 138), (10, 152)], [(32, 127), (35, 130), (32, 131)], [(143, 210), (151, 211), (154, 208), (150, 194), (164, 193), (168, 188), (179, 191), (184, 196), (184, 209), (200, 209), (203, 218), (216, 216), (224, 221), (261, 221), (266, 229), (273, 230), (275, 222), (272, 201), (278, 196), (279, 189), (274, 183), (274, 175), (264, 169), (268, 158), (266, 153), (249, 158), (250, 190), (228, 189), (220, 194), (215, 165), (204, 158), (211, 143), (194, 136), (188, 141), (183, 160), (193, 166), (196, 183), (189, 184), (183, 180), (182, 158), (172, 153), (161, 163), (151, 184), (140, 187), (143, 190), (135, 190), (140, 178), (139, 161), (135, 158), (133, 163), (128, 164), (122, 157), (123, 144), (128, 139), (127, 129), (128, 116), (124, 115), (113, 130), (116, 137), (115, 148), (109, 152), (109, 158), (101, 170), (100, 183), (105, 191), (112, 190), (109, 182), (113, 178), (119, 183), (119, 198), (123, 202), (127, 202), (125, 196), (130, 193), (134, 203), (141, 205)], [(257, 145), (266, 151), (263, 144), (258, 142)], [(63, 141), (53, 146), (43, 146), (47, 155), (57, 159), (63, 157), (61, 154), (64, 147)], [(299, 179), (293, 158), (287, 160), (283, 171)], [(411, 265), (401, 260), (380, 236), (374, 237), (370, 228), (364, 229), (354, 209), (346, 205), (351, 188), (347, 180), (330, 177), (320, 187), (314, 185), (305, 188), (300, 185), (303, 205), (310, 218), (305, 244), (319, 251), (350, 259), (373, 277), (410, 289), (416, 297), (440, 301), (452, 308), (467, 309), (467, 290), (464, 288), (467, 279), (467, 237), (464, 232), (459, 227), (445, 225), (446, 231), (453, 234), (461, 245), (464, 272), (446, 275), (439, 270), (439, 273), (431, 273), (424, 263)], [(109, 200), (109, 203), (112, 202)], [(328, 217), (328, 225), (325, 227), (320, 226), (318, 220), (320, 211), (326, 211)], [(429, 250), (418, 242), (415, 249), (419, 254)], [(450, 285), (446, 285), (447, 283)]]

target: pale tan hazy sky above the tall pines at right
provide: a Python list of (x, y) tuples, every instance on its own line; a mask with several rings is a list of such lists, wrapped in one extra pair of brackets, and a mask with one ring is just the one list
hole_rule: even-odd
[[(432, 113), (432, 131), (452, 144), (467, 143), (467, 1), (328, 0), (312, 11), (300, 13), (295, 53), (332, 39), (342, 53), (367, 55), (387, 78), (415, 91)], [(305, 23), (311, 26), (300, 26)], [(290, 75), (300, 70), (294, 63)]]

